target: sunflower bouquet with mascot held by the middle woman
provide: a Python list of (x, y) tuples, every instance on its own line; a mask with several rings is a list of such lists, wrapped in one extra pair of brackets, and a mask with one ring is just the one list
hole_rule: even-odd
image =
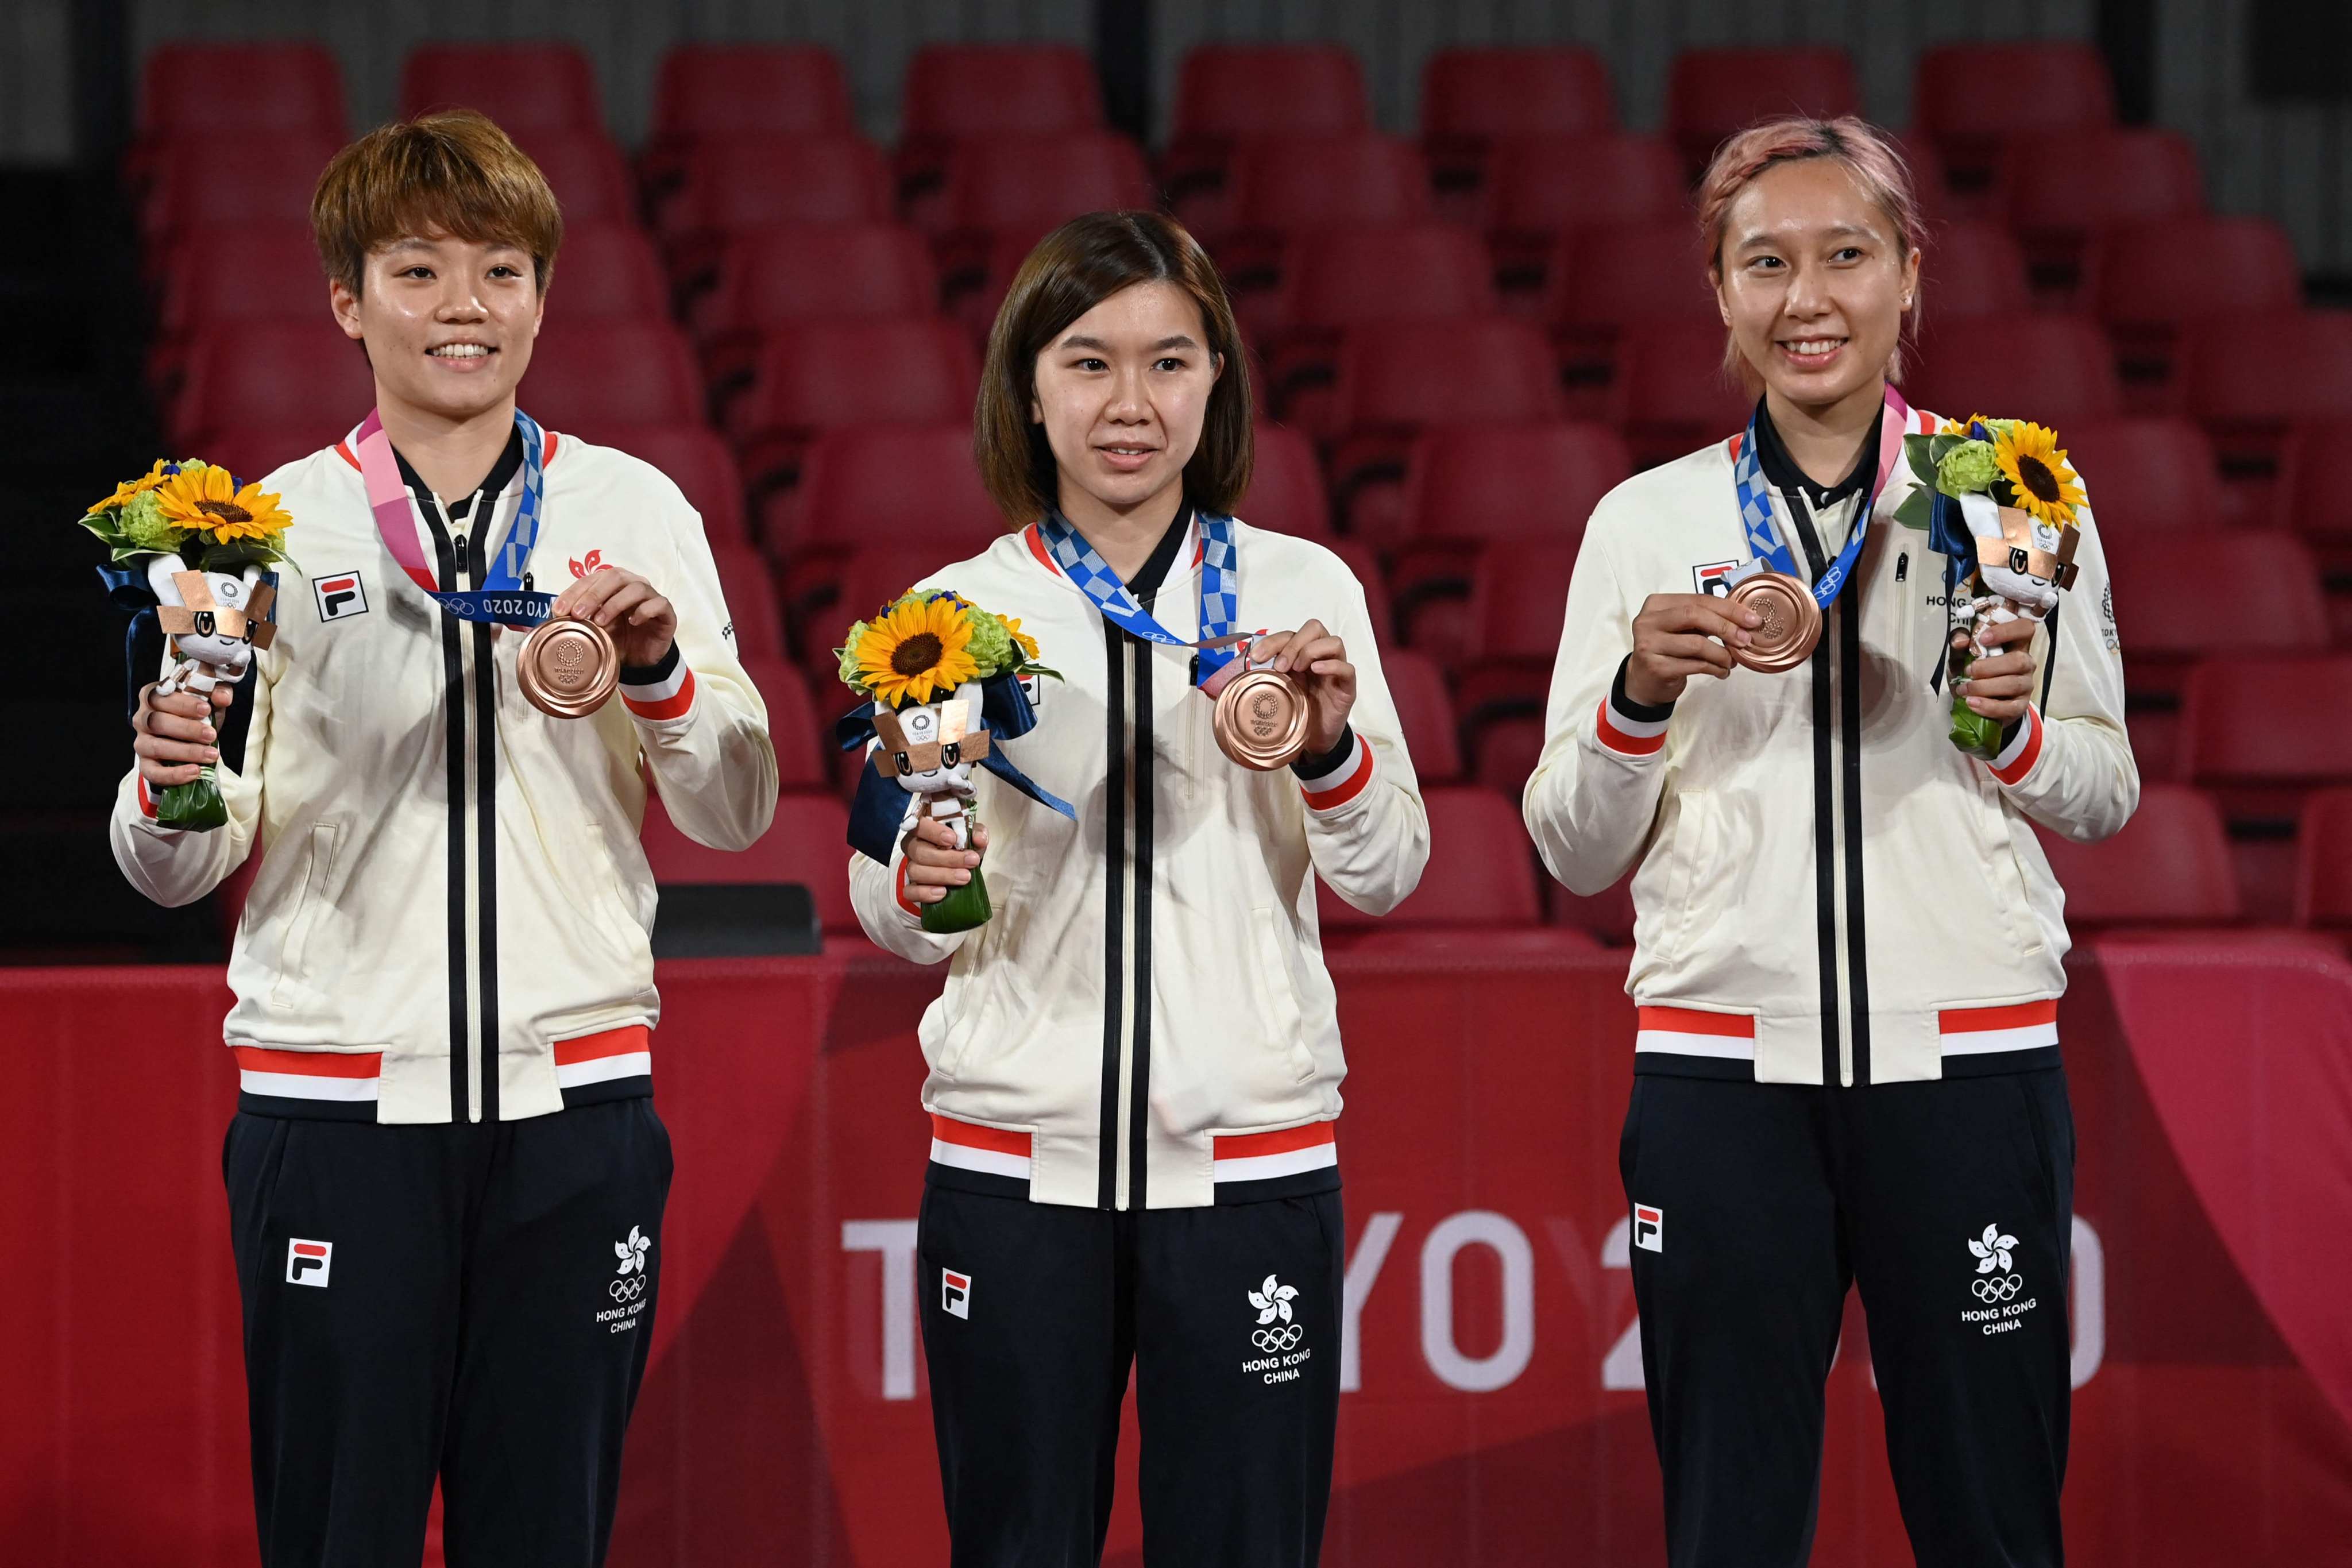
[[(849, 837), (875, 860), (922, 818), (971, 844), (971, 769), (985, 766), (1023, 795), (1068, 813), (1014, 769), (990, 741), (1023, 733), (1035, 712), (1021, 682), (1051, 675), (1037, 639), (1014, 616), (993, 616), (943, 588), (903, 592), (849, 628), (835, 649), (842, 684), (866, 703), (842, 719), (842, 745), (870, 745), (873, 773), (858, 783)], [(906, 792), (903, 809), (889, 785)], [(887, 827), (882, 827), (887, 818)], [(988, 922), (981, 872), (922, 907), (924, 931), (969, 931)]]

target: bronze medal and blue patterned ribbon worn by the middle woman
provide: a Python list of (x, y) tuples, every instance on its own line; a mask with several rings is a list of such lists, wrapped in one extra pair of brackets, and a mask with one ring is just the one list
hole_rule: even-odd
[(1216, 701), (1216, 745), (1244, 769), (1270, 771), (1305, 750), (1308, 698), (1298, 682), (1249, 658), (1249, 637), (1232, 623), (1242, 602), (1242, 562), (1232, 517), (1200, 515), (1200, 639), (1176, 637), (1152, 621), (1120, 574), (1058, 512), (1037, 522), (1037, 536), (1061, 574), (1094, 599), (1122, 632), (1171, 649), (1195, 649), (1192, 684)]

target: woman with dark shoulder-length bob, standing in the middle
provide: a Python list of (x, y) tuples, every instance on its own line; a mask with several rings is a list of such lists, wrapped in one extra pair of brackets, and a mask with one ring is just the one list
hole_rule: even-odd
[[(1315, 879), (1381, 914), (1428, 823), (1364, 590), (1232, 517), (1251, 402), (1209, 256), (1152, 212), (1047, 235), (997, 313), (974, 449), (1009, 531), (920, 588), (1018, 616), (1037, 726), (971, 849), (851, 860), (873, 940), (950, 959), (922, 1020), (917, 1267), (960, 1568), (1101, 1561), (1129, 1361), (1145, 1561), (1308, 1566), (1338, 1418), (1338, 1020)], [(1258, 632), (1256, 628), (1284, 628)], [(1218, 750), (1195, 682), (1305, 691), (1305, 755)], [(988, 860), (995, 917), (920, 917)]]

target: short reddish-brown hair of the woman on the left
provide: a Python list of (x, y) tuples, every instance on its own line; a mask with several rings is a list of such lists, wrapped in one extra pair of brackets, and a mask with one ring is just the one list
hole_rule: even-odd
[(564, 214), (539, 165), (470, 108), (379, 125), (336, 153), (310, 193), (320, 266), (353, 294), (369, 252), (430, 233), (529, 252), (546, 294)]

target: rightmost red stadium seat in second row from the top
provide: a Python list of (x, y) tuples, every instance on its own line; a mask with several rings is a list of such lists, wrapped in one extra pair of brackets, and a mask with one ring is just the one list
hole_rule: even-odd
[(2204, 212), (2197, 148), (2178, 132), (2147, 127), (2013, 136), (2002, 158), (2002, 190), (2034, 284), (2058, 294), (2079, 282), (2093, 233)]

